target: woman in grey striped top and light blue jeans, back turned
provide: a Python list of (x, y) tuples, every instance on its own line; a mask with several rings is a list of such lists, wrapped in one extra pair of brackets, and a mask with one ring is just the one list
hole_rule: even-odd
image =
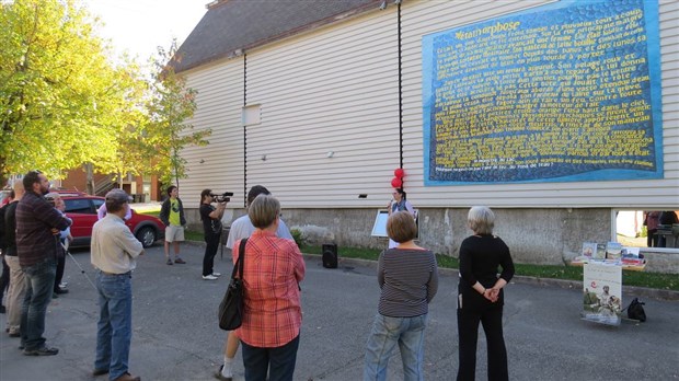
[(383, 251), (379, 258), (377, 277), (382, 292), (366, 345), (364, 380), (387, 379), (389, 358), (396, 344), (403, 379), (423, 380), (424, 332), (429, 302), (438, 290), (436, 257), (413, 241), (417, 227), (407, 211), (389, 217), (387, 233), (399, 245)]

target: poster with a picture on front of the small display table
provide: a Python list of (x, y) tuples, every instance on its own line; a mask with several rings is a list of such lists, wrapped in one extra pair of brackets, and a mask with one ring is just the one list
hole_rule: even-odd
[(622, 266), (587, 263), (583, 272), (583, 319), (620, 325), (622, 310)]

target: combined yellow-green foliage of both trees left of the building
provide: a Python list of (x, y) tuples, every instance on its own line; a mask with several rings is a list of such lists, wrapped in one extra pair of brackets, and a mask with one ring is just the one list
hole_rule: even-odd
[(206, 145), (192, 131), (195, 91), (159, 49), (156, 74), (113, 64), (97, 20), (76, 0), (0, 2), (0, 175), (41, 169), (51, 177), (92, 163), (100, 173), (185, 174), (181, 150)]

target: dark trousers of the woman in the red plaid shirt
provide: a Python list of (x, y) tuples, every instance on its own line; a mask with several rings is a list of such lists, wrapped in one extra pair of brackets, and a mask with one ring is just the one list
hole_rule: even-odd
[[(260, 348), (241, 342), (243, 347), (243, 367), (245, 380), (265, 381), (268, 370), (268, 381), (292, 381), (299, 335), (290, 343), (276, 348)], [(271, 367), (271, 369), (269, 369)]]

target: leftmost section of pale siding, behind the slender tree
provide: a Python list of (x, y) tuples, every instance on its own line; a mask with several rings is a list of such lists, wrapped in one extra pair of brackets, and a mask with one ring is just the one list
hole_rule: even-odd
[[(191, 123), (194, 130), (210, 128), (210, 143), (187, 147), (182, 155), (187, 160), (188, 178), (180, 180), (180, 193), (185, 204), (197, 207), (200, 192), (233, 192), (232, 206), (244, 205), (243, 192), (243, 61), (235, 58), (218, 65), (198, 68), (187, 73), (187, 86), (198, 91), (197, 109)], [(200, 163), (203, 161), (203, 163)]]

